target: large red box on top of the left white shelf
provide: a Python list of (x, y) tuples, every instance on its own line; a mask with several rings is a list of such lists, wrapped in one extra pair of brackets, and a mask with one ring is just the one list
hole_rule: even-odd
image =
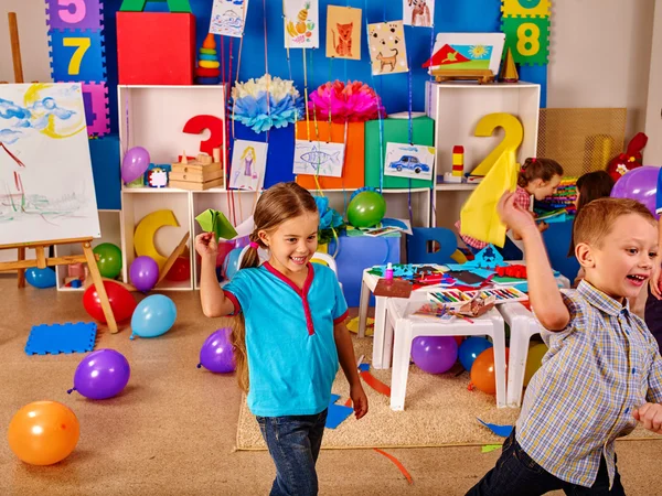
[(192, 85), (194, 66), (193, 14), (117, 12), (120, 85)]

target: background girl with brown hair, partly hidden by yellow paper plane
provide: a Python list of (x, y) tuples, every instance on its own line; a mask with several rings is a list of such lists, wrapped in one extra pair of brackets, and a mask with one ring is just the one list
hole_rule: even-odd
[[(536, 200), (543, 200), (553, 195), (560, 183), (563, 168), (552, 159), (531, 158), (524, 161), (524, 165), (517, 175), (517, 187), (514, 193), (514, 201), (525, 211), (531, 211), (531, 196)], [(533, 215), (533, 213), (531, 213)], [(538, 229), (547, 229), (546, 223), (538, 224)], [(460, 220), (456, 223), (456, 228), (461, 233)], [(473, 252), (478, 254), (488, 246), (487, 242), (479, 241), (470, 236), (462, 236), (462, 241)], [(505, 238), (505, 245), (499, 251), (505, 260), (520, 260), (520, 249), (510, 238)]]

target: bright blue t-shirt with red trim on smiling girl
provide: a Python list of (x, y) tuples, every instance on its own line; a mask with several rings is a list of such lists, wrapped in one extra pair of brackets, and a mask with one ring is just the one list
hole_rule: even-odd
[(319, 413), (329, 406), (338, 373), (333, 326), (348, 304), (325, 266), (308, 265), (303, 289), (274, 269), (239, 270), (224, 288), (244, 313), (248, 354), (248, 408), (255, 416)]

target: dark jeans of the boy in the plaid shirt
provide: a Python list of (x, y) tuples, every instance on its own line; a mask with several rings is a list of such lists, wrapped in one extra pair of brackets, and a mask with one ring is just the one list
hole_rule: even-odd
[(551, 490), (563, 489), (567, 495), (624, 496), (618, 470), (613, 486), (609, 490), (607, 463), (602, 457), (600, 468), (591, 487), (570, 484), (552, 475), (528, 456), (515, 440), (515, 430), (503, 443), (496, 466), (469, 492), (467, 496), (537, 496)]

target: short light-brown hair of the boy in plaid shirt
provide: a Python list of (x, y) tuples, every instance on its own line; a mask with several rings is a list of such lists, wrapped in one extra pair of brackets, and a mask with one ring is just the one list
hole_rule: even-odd
[(656, 226), (653, 214), (640, 202), (630, 198), (598, 198), (585, 205), (573, 226), (575, 246), (580, 242), (600, 247), (611, 231), (616, 219), (637, 214)]

